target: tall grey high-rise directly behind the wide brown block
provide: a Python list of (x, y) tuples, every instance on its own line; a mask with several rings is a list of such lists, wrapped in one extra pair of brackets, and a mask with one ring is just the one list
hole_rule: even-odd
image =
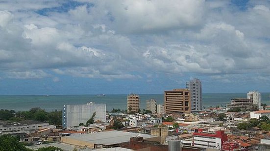
[(191, 110), (202, 110), (202, 91), (199, 79), (193, 79), (186, 83), (187, 89), (190, 90)]

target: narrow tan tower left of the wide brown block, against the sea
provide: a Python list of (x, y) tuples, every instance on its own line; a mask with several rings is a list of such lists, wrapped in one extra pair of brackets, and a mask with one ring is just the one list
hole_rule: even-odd
[(140, 97), (137, 94), (129, 94), (127, 96), (127, 112), (138, 112), (140, 106)]

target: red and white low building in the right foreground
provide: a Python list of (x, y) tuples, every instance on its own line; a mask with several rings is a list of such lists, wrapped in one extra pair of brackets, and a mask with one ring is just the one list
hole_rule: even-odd
[(201, 148), (210, 148), (222, 150), (223, 142), (228, 141), (224, 130), (217, 130), (216, 133), (204, 132), (202, 129), (196, 129), (193, 133), (194, 146)]

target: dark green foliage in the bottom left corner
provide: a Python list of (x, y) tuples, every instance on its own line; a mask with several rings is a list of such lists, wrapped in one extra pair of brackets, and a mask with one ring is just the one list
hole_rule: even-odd
[(0, 151), (31, 151), (26, 149), (23, 143), (19, 142), (19, 138), (11, 135), (0, 136)]

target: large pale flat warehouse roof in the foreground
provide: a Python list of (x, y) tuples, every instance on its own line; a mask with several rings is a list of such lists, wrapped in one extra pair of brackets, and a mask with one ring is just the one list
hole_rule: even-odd
[(123, 142), (129, 142), (130, 137), (136, 137), (140, 135), (144, 139), (154, 138), (158, 136), (151, 136), (148, 134), (139, 134), (132, 132), (124, 132), (124, 131), (104, 131), (99, 133), (91, 133), (91, 134), (83, 134), (83, 135), (73, 135), (66, 136), (79, 141), (91, 142), (94, 144), (102, 144), (102, 145), (111, 145), (111, 144), (120, 144)]

